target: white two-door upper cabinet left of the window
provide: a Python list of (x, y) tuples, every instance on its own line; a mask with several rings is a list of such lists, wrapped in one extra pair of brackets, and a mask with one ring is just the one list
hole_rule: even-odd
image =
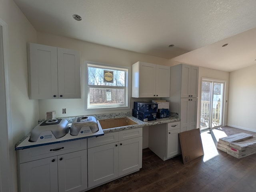
[(28, 43), (29, 98), (81, 98), (80, 52)]

